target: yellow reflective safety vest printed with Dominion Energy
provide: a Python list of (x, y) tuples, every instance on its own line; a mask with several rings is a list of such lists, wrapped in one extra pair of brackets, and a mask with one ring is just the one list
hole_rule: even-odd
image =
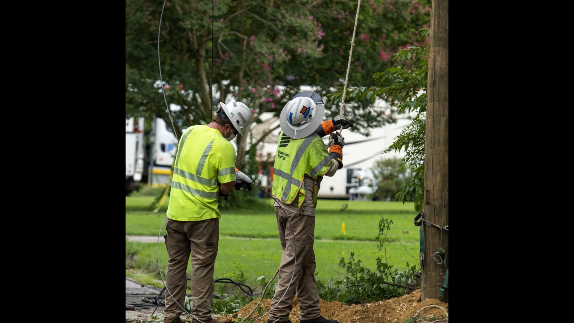
[[(325, 175), (333, 164), (327, 148), (318, 134), (312, 133), (301, 139), (291, 139), (285, 133), (279, 134), (279, 143), (273, 166), (274, 197), (290, 204), (299, 194), (298, 208), (305, 199), (303, 177), (316, 179)], [(313, 202), (317, 206), (316, 187)]]

